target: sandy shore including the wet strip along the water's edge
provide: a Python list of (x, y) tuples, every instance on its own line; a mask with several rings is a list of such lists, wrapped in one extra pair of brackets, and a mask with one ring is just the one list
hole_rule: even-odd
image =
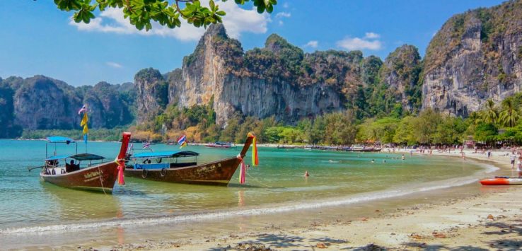
[[(511, 172), (509, 156), (501, 156), (507, 151), (495, 151), (490, 160), (482, 153), (472, 153), (471, 150), (465, 152), (472, 161), (486, 165), (494, 163), (495, 167), (500, 168), (495, 174)], [(381, 153), (387, 153), (387, 150)], [(410, 149), (395, 152), (401, 153), (405, 153), (408, 158)], [(427, 153), (413, 154), (429, 156)], [(458, 151), (434, 152), (433, 155), (460, 158)], [(511, 249), (521, 247), (522, 241), (516, 238), (522, 233), (522, 224), (518, 220), (522, 216), (522, 206), (516, 202), (522, 199), (522, 186), (481, 187), (475, 183), (378, 199), (369, 204), (361, 202), (261, 216), (239, 216), (238, 222), (234, 222), (236, 218), (218, 218), (195, 224), (159, 223), (155, 228), (161, 230), (154, 232), (160, 233), (158, 235), (141, 230), (140, 226), (129, 229), (124, 226), (98, 228), (95, 231), (98, 233), (79, 238), (76, 245), (47, 243), (42, 239), (42, 245), (26, 248), (246, 250), (253, 247), (256, 250), (257, 247), (266, 247), (268, 249), (265, 250), (317, 250), (327, 247), (330, 250), (371, 250), (382, 247), (404, 250), (462, 247), (499, 249), (503, 245)], [(306, 218), (300, 218), (302, 216)], [(102, 233), (114, 235), (115, 230), (118, 233), (117, 240), (95, 238), (96, 235), (103, 236)], [(126, 233), (120, 238), (120, 232)]]

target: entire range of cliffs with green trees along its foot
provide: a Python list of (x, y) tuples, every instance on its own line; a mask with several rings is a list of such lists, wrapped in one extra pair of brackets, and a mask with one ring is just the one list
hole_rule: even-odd
[(0, 78), (0, 138), (57, 129), (78, 138), (86, 104), (91, 139), (129, 129), (144, 141), (241, 141), (252, 131), (264, 143), (521, 144), (520, 23), (521, 1), (478, 8), (446, 21), (424, 58), (402, 45), (384, 61), (304, 53), (276, 34), (245, 52), (211, 25), (181, 69), (143, 69), (134, 83)]

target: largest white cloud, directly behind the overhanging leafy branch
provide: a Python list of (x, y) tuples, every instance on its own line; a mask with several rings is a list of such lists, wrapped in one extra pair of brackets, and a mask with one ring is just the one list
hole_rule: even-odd
[[(203, 0), (202, 4), (208, 4), (208, 0)], [(266, 33), (267, 23), (270, 18), (266, 13), (258, 14), (254, 9), (245, 10), (240, 8), (234, 1), (216, 1), (219, 8), (226, 12), (223, 23), (226, 27), (228, 35), (234, 38), (240, 37), (241, 33)], [(157, 35), (161, 37), (175, 37), (182, 41), (199, 40), (204, 33), (204, 28), (195, 28), (194, 26), (182, 21), (181, 27), (170, 29), (152, 23), (152, 29), (149, 31), (137, 30), (131, 25), (128, 19), (123, 17), (123, 13), (119, 8), (107, 8), (100, 13), (97, 18), (91, 20), (91, 23), (76, 23), (72, 20), (70, 25), (76, 26), (78, 30), (101, 32), (101, 33), (117, 33), (117, 34), (137, 34), (137, 35)]]

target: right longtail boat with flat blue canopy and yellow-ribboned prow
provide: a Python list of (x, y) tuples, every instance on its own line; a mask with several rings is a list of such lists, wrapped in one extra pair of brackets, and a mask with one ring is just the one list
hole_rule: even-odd
[(143, 180), (199, 185), (228, 185), (248, 148), (250, 148), (253, 139), (254, 136), (249, 134), (243, 149), (236, 157), (199, 165), (196, 159), (178, 162), (178, 158), (197, 158), (199, 153), (193, 151), (137, 153), (129, 156), (124, 174), (126, 177), (136, 177)]

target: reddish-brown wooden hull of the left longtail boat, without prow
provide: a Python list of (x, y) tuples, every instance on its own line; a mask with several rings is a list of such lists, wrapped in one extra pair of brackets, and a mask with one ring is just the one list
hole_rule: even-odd
[(112, 193), (117, 179), (117, 163), (107, 162), (71, 173), (46, 175), (40, 173), (45, 182), (59, 187)]

